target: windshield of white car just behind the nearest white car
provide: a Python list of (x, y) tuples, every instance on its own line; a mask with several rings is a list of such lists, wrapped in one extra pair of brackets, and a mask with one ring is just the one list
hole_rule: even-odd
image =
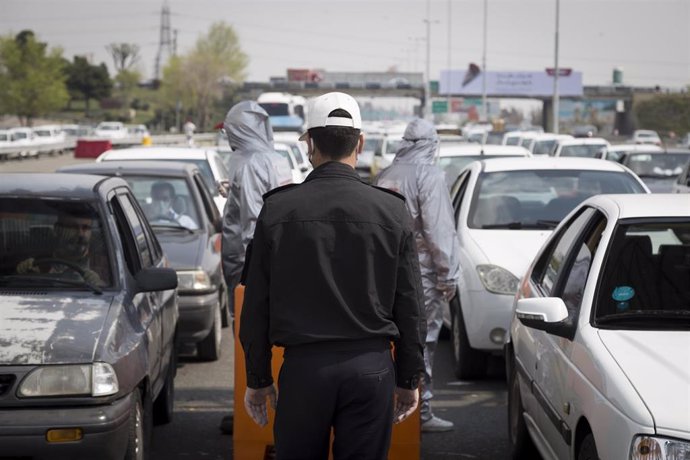
[(553, 228), (600, 193), (644, 193), (634, 176), (613, 171), (525, 170), (483, 173), (470, 205), (470, 228)]

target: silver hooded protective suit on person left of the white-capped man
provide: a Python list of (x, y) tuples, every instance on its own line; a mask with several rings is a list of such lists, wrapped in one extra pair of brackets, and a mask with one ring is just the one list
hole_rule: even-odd
[(278, 186), (271, 161), (273, 131), (268, 114), (254, 101), (234, 105), (223, 123), (233, 154), (228, 162), (230, 189), (223, 210), (223, 274), (232, 292), (239, 282), (244, 255), (254, 236), (263, 194)]

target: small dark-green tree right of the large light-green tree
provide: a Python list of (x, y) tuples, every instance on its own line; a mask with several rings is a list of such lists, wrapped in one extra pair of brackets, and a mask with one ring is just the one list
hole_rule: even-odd
[(92, 65), (85, 57), (74, 56), (74, 61), (67, 68), (67, 88), (73, 99), (84, 99), (88, 116), (89, 100), (110, 96), (113, 82), (104, 63)]

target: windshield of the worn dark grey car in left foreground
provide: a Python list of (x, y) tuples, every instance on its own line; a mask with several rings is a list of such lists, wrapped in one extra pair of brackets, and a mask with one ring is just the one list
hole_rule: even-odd
[(112, 285), (107, 238), (93, 203), (0, 198), (0, 286), (64, 290)]

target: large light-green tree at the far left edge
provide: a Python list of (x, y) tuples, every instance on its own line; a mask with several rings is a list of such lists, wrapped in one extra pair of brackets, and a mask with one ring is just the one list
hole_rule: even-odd
[(16, 115), (22, 125), (67, 103), (62, 50), (24, 30), (0, 37), (0, 113)]

